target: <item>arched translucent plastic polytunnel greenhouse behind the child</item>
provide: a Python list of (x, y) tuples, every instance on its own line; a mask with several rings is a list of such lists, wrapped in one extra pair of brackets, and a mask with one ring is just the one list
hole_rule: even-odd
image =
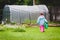
[(48, 14), (46, 5), (5, 5), (3, 9), (3, 22), (7, 23), (36, 23), (40, 12)]

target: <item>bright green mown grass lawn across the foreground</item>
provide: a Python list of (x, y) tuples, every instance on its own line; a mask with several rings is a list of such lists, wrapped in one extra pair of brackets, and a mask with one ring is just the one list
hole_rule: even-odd
[(43, 33), (38, 27), (26, 28), (26, 32), (0, 31), (0, 40), (60, 40), (60, 27), (49, 27)]

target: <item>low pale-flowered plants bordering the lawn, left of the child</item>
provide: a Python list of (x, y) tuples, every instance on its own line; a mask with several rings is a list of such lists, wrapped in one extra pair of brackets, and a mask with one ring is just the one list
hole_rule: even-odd
[[(13, 24), (14, 25), (14, 24)], [(29, 27), (29, 25), (26, 25), (26, 24), (23, 24), (23, 25), (17, 25), (16, 28), (12, 28), (10, 27), (12, 25), (0, 25), (0, 31), (8, 31), (8, 30), (11, 30), (11, 31), (14, 31), (14, 32), (25, 32), (26, 31), (26, 28)]]

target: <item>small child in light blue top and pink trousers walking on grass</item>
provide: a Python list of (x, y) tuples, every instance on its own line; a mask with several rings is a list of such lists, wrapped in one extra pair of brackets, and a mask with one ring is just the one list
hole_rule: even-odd
[(44, 32), (44, 23), (45, 23), (45, 22), (47, 22), (47, 20), (46, 20), (45, 17), (44, 17), (44, 13), (41, 12), (41, 13), (40, 13), (40, 16), (39, 16), (38, 19), (37, 19), (37, 24), (39, 24), (39, 26), (40, 26), (40, 31), (41, 31), (41, 32)]

